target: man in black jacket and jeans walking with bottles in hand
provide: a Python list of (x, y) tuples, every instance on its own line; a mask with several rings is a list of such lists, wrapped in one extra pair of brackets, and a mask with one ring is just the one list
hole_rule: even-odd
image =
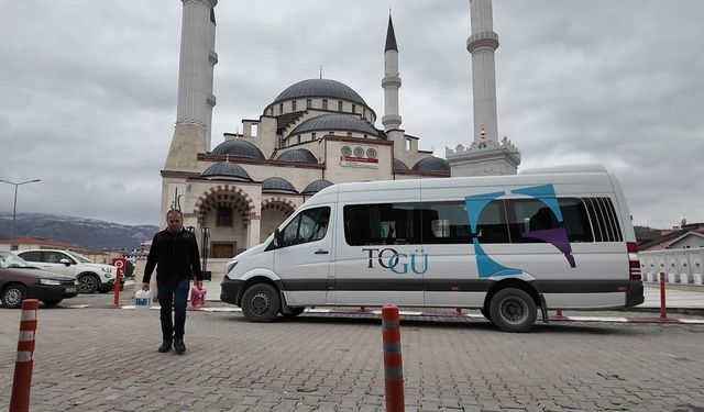
[[(156, 266), (158, 303), (162, 307), (162, 335), (164, 342), (158, 352), (170, 350), (178, 355), (186, 352), (184, 326), (190, 279), (200, 279), (200, 255), (196, 235), (184, 229), (184, 215), (178, 210), (166, 213), (166, 229), (152, 240), (146, 258), (142, 290), (150, 290), (150, 280)], [(174, 320), (172, 321), (172, 308)]]

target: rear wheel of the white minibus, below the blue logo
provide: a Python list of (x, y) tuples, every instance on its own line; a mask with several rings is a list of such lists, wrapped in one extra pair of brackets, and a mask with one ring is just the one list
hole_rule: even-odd
[(527, 332), (536, 323), (538, 310), (530, 294), (521, 289), (502, 289), (492, 298), (490, 314), (496, 327), (505, 332)]

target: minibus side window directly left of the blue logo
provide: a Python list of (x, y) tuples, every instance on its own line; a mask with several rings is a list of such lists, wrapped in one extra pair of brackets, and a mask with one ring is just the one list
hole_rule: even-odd
[(424, 244), (472, 243), (464, 201), (422, 203)]

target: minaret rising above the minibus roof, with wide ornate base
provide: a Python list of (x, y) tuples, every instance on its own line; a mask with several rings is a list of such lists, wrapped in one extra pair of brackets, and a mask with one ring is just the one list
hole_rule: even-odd
[(496, 67), (492, 0), (470, 0), (472, 35), (466, 49), (472, 55), (473, 142), (469, 148), (446, 148), (452, 176), (515, 175), (520, 153), (506, 137), (498, 142), (496, 120)]

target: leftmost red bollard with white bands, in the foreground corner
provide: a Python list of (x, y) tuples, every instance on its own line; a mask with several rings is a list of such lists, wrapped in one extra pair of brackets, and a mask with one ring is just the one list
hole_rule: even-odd
[(32, 368), (34, 367), (32, 357), (34, 356), (34, 335), (36, 333), (36, 312), (38, 309), (40, 301), (36, 299), (25, 299), (22, 302), (18, 359), (14, 363), (10, 412), (26, 412), (30, 410)]

